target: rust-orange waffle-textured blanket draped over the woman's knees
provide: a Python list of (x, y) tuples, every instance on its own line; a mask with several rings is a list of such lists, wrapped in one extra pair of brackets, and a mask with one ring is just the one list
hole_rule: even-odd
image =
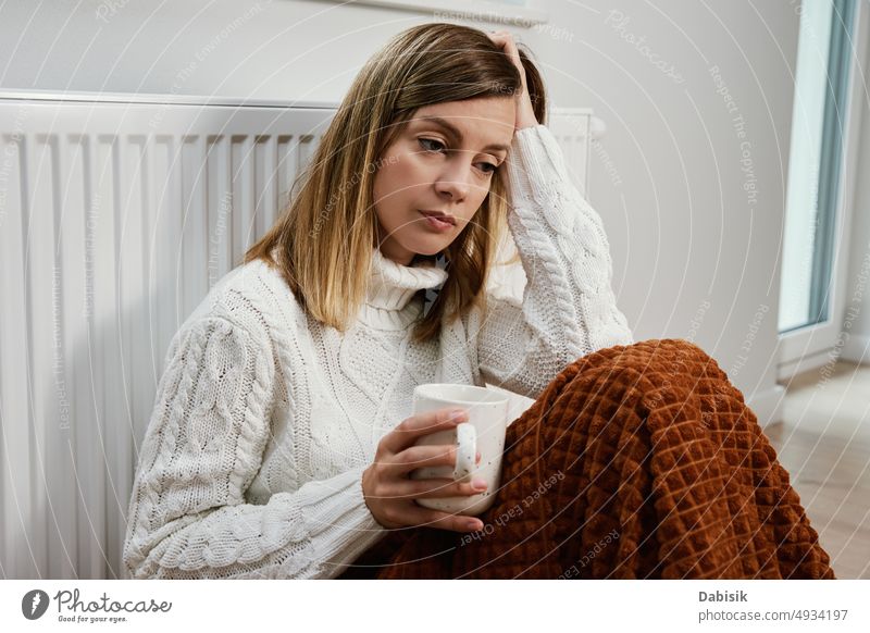
[(579, 359), (505, 446), (483, 531), (394, 530), (339, 578), (834, 578), (755, 413), (687, 340)]

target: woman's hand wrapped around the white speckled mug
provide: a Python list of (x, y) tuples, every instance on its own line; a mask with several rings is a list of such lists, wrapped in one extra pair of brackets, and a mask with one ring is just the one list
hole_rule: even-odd
[[(453, 411), (460, 412), (458, 418), (450, 418)], [(424, 508), (417, 505), (414, 499), (476, 495), (486, 489), (486, 482), (481, 480), (483, 487), (473, 487), (474, 481), (460, 483), (444, 477), (409, 479), (411, 471), (421, 467), (452, 467), (456, 463), (456, 446), (414, 444), (424, 435), (453, 429), (462, 422), (468, 422), (468, 412), (453, 408), (438, 409), (411, 415), (381, 438), (374, 463), (362, 473), (365, 504), (381, 525), (390, 529), (424, 525), (456, 532), (483, 529), (480, 519)]]

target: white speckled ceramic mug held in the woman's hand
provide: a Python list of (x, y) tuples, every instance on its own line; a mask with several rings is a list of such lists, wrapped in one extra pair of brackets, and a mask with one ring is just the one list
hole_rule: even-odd
[[(418, 498), (423, 507), (444, 512), (476, 516), (495, 501), (501, 481), (501, 454), (505, 450), (505, 433), (508, 427), (508, 402), (505, 393), (453, 383), (430, 383), (414, 388), (414, 414), (435, 409), (459, 408), (469, 413), (469, 421), (456, 429), (430, 433), (418, 440), (418, 446), (456, 445), (455, 467), (423, 467), (411, 471), (411, 479), (423, 480), (447, 477), (471, 482), (472, 477), (486, 481), (482, 493), (459, 497)], [(477, 451), (481, 463), (476, 463)]]

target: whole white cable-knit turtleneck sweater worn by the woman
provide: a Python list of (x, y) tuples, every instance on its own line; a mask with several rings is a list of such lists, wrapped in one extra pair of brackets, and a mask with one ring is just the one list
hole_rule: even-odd
[(490, 298), (485, 315), (415, 345), (418, 290), (448, 273), (377, 250), (344, 335), (262, 262), (211, 289), (170, 345), (141, 445), (124, 544), (133, 578), (334, 578), (387, 532), (361, 477), (411, 415), (415, 385), (488, 382), (536, 398), (576, 358), (633, 343), (601, 221), (550, 131), (517, 132), (506, 166), (522, 306)]

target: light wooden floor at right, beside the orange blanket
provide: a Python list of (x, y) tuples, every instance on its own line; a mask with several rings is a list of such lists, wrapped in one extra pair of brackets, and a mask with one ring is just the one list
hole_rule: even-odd
[(870, 365), (838, 362), (786, 387), (765, 429), (841, 579), (870, 579)]

